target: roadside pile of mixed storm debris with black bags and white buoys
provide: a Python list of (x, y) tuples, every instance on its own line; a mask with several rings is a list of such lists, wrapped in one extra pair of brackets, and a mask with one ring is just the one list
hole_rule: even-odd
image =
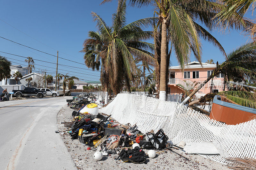
[[(168, 137), (163, 129), (156, 133), (150, 130), (142, 133), (136, 124), (121, 124), (111, 117), (99, 113), (98, 105), (91, 103), (88, 96), (74, 97), (67, 100), (68, 106), (73, 111), (73, 121), (64, 122), (71, 139), (77, 139), (87, 147), (87, 150), (95, 152), (93, 158), (101, 160), (103, 156), (114, 155), (115, 160), (131, 163), (146, 163), (146, 159), (155, 158), (156, 153), (171, 151), (182, 158), (172, 149), (183, 149), (179, 146), (168, 143)], [(143, 149), (149, 150), (146, 154)], [(155, 150), (165, 150), (158, 151)]]

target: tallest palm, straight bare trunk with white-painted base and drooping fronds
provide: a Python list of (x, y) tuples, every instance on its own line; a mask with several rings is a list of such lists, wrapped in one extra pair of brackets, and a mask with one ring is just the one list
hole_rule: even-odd
[[(108, 1), (111, 0), (105, 0), (104, 2)], [(201, 62), (201, 42), (199, 37), (213, 43), (226, 55), (220, 43), (202, 26), (197, 24), (199, 20), (209, 30), (217, 27), (215, 22), (218, 18), (214, 18), (214, 16), (222, 7), (221, 4), (207, 0), (130, 0), (130, 4), (139, 7), (153, 4), (156, 10), (154, 13), (159, 16), (158, 23), (154, 29), (157, 59), (156, 79), (157, 83), (160, 83), (159, 99), (166, 99), (167, 73), (172, 50), (175, 52), (182, 70), (184, 65), (189, 62), (191, 53)], [(241, 18), (236, 20), (234, 27), (236, 29), (247, 29), (247, 26), (251, 24), (251, 22)], [(168, 50), (169, 42), (171, 42), (170, 50)]]

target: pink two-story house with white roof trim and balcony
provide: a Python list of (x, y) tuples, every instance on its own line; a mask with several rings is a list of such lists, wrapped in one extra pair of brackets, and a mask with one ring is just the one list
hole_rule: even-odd
[[(207, 77), (212, 74), (212, 70), (215, 68), (216, 64), (202, 63), (201, 65), (199, 62), (196, 61), (186, 64), (184, 67), (184, 73), (180, 69), (180, 66), (169, 67), (170, 77), (168, 79), (169, 85), (167, 88), (167, 93), (183, 93), (184, 90), (178, 84), (182, 86), (188, 86), (189, 82), (190, 85), (192, 85), (193, 82), (197, 82), (198, 84), (195, 86), (196, 88), (201, 82), (203, 82)], [(209, 93), (211, 85), (213, 87), (213, 92), (221, 92), (223, 91), (223, 82), (224, 75), (221, 73), (217, 77), (213, 78), (213, 85), (212, 81), (210, 80), (204, 85), (203, 88), (199, 90), (199, 92), (197, 92), (197, 94), (201, 94), (202, 96), (206, 93)]]

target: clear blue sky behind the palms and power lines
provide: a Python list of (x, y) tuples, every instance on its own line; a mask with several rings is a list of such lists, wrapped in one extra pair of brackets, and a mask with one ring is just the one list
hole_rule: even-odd
[[(79, 51), (82, 49), (83, 42), (87, 38), (88, 31), (97, 30), (96, 24), (92, 21), (91, 11), (98, 13), (108, 25), (111, 24), (111, 16), (116, 11), (117, 3), (115, 0), (112, 3), (104, 5), (99, 5), (100, 3), (101, 1), (99, 0), (2, 0), (0, 10), (0, 36), (53, 55), (57, 55), (57, 50), (59, 50), (60, 57), (84, 63), (83, 54), (79, 53)], [(153, 16), (153, 7), (151, 6), (140, 9), (129, 6), (127, 8), (127, 23), (151, 16)], [(2, 20), (23, 33), (4, 23)], [(148, 28), (148, 30), (151, 30), (151, 28)], [(230, 33), (221, 34), (218, 30), (215, 30), (212, 32), (212, 35), (221, 43), (226, 53), (248, 41), (248, 37), (244, 37), (244, 35), (239, 34), (238, 31), (230, 30)], [(219, 63), (224, 61), (223, 55), (212, 44), (202, 40), (202, 45), (203, 62), (206, 62), (208, 59), (213, 59), (215, 63), (216, 61), (219, 61)], [(0, 38), (0, 51), (25, 57), (31, 56), (34, 59), (56, 63), (56, 57), (54, 56), (26, 47), (20, 47), (20, 45), (16, 45), (2, 38)], [(24, 58), (18, 56), (1, 52), (0, 55), (24, 61)], [(26, 63), (12, 59), (10, 59), (10, 61), (27, 65)], [(194, 60), (194, 56), (192, 55), (191, 61)], [(63, 59), (59, 59), (58, 62), (73, 67), (86, 68), (82, 64), (65, 61)], [(173, 66), (179, 65), (174, 54), (171, 57), (171, 62)], [(12, 64), (18, 65), (17, 63)], [(56, 65), (50, 63), (40, 61), (35, 61), (35, 63), (56, 68)], [(48, 72), (56, 71), (56, 69), (38, 65), (35, 65), (35, 67), (49, 70)], [(77, 68), (73, 70), (72, 68), (63, 66), (59, 66), (58, 69), (62, 69), (59, 70), (62, 73), (69, 73), (70, 75), (75, 75), (86, 81), (99, 81), (100, 78), (100, 72), (92, 70)], [(73, 73), (71, 71), (79, 73)]]

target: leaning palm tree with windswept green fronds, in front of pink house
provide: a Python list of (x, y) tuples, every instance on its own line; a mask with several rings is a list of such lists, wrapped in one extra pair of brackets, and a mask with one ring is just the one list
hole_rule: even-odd
[[(224, 74), (227, 81), (244, 81), (245, 78), (256, 79), (256, 45), (247, 43), (231, 51), (227, 55), (226, 61), (221, 64), (217, 62), (217, 68), (212, 74), (183, 100), (185, 104), (198, 90), (200, 90), (208, 81), (220, 73)], [(225, 81), (226, 82), (226, 81)]]

